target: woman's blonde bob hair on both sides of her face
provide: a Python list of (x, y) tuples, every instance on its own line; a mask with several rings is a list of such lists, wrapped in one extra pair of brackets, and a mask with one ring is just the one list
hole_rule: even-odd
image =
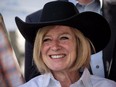
[[(42, 56), (41, 56), (41, 47), (42, 42), (45, 34), (54, 26), (47, 26), (43, 27), (38, 30), (35, 43), (34, 43), (34, 52), (33, 52), (33, 58), (34, 62), (42, 74), (50, 72), (50, 69), (46, 66), (46, 64), (43, 62)], [(70, 68), (70, 70), (79, 70), (81, 68), (85, 68), (89, 66), (90, 63), (90, 56), (91, 56), (91, 46), (93, 47), (91, 41), (87, 39), (78, 29), (71, 28), (72, 32), (75, 35), (76, 38), (76, 61)], [(93, 47), (94, 48), (94, 47)]]

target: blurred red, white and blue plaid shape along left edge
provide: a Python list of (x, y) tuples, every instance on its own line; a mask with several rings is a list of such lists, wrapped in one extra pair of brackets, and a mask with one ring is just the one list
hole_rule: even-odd
[(9, 34), (0, 14), (0, 87), (17, 87), (24, 82), (16, 55), (9, 41)]

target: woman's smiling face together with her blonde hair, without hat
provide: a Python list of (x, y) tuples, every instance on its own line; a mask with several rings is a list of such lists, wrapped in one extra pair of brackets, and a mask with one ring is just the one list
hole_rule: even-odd
[[(84, 51), (82, 52), (82, 50)], [(72, 27), (47, 26), (39, 29), (35, 39), (34, 60), (43, 74), (51, 70), (77, 70), (83, 65), (87, 67), (90, 58), (86, 59), (85, 56), (90, 56), (90, 53), (90, 44), (87, 38)]]

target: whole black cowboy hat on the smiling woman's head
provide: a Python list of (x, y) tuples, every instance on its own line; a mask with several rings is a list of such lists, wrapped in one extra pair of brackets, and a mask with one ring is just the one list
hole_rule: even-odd
[(26, 23), (15, 18), (19, 31), (30, 43), (34, 43), (39, 28), (50, 25), (66, 25), (77, 28), (95, 46), (96, 52), (105, 48), (110, 40), (110, 27), (100, 14), (94, 12), (79, 13), (74, 4), (65, 1), (52, 1), (44, 5), (40, 22)]

